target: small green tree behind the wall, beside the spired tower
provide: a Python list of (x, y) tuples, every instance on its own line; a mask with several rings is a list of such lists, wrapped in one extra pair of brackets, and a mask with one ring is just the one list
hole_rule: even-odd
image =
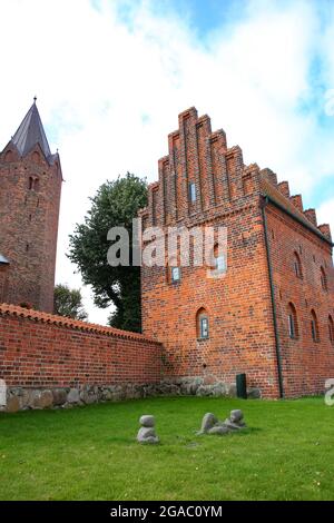
[(55, 314), (82, 322), (87, 319), (88, 315), (82, 306), (80, 289), (71, 289), (68, 285), (56, 285)]

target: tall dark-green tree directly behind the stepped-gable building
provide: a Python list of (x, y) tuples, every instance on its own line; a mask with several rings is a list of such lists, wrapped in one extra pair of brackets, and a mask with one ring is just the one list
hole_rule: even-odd
[(95, 304), (101, 308), (115, 306), (109, 325), (140, 332), (140, 267), (111, 267), (107, 260), (111, 227), (124, 226), (129, 233), (132, 259), (132, 219), (147, 205), (147, 182), (127, 172), (106, 181), (90, 198), (91, 208), (85, 223), (77, 224), (70, 236), (68, 257), (75, 263), (85, 284), (94, 290)]

